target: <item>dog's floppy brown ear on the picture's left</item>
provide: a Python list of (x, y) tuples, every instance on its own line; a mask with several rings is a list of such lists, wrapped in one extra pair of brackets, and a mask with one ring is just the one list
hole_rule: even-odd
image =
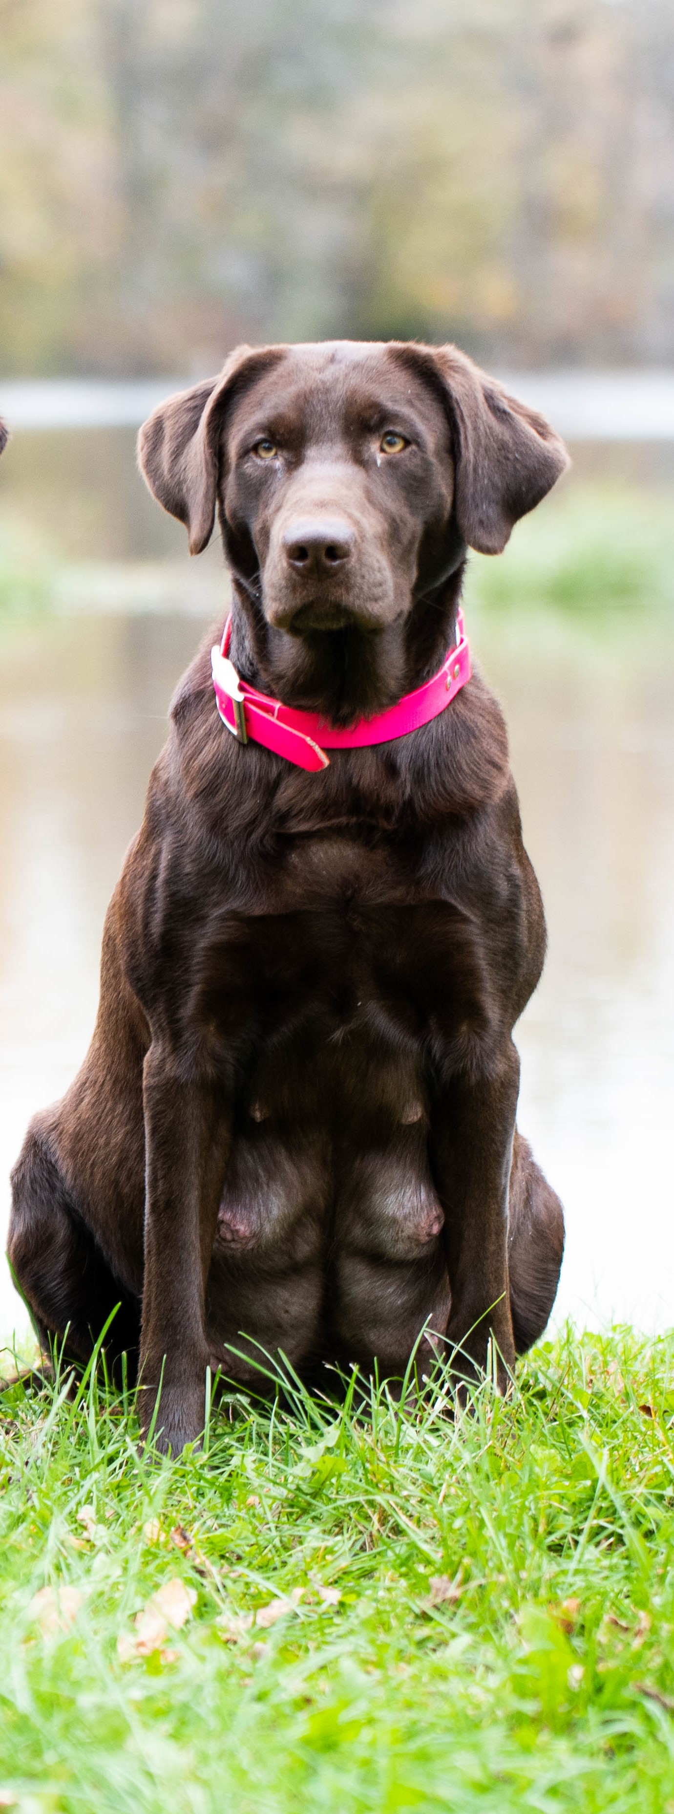
[(281, 346), (236, 346), (217, 377), (168, 397), (143, 423), (138, 464), (152, 497), (187, 524), (190, 555), (210, 542), (216, 521), (223, 410)]

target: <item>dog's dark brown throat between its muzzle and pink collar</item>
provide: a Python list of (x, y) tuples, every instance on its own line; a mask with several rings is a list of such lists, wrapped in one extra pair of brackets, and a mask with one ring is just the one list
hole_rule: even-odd
[(379, 631), (321, 631), (292, 637), (274, 629), (259, 591), (232, 573), (232, 644), (237, 673), (283, 700), (350, 726), (386, 711), (442, 664), (457, 633), (466, 561), (411, 611)]

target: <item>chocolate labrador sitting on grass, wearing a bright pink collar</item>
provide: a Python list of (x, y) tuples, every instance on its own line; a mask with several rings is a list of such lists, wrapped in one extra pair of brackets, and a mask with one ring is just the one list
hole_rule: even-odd
[[(118, 1306), (107, 1342), (145, 1431), (161, 1384), (172, 1453), (207, 1366), (257, 1384), (261, 1350), (395, 1379), (417, 1344), (469, 1379), (493, 1337), (504, 1390), (563, 1246), (515, 1128), (540, 892), (480, 677), (408, 735), (368, 726), (458, 673), (466, 551), (504, 548), (563, 446), (453, 346), (335, 341), (237, 348), (156, 410), (140, 463), (192, 553), (217, 512), (236, 717), (205, 644), (107, 914), (92, 1045), (14, 1168), (20, 1290), (82, 1360)], [(324, 726), (319, 773), (265, 747), (265, 711), (246, 735), (237, 677)]]

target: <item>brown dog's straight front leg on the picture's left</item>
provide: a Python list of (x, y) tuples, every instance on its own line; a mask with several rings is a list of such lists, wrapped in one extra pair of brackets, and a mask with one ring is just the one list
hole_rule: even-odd
[(147, 1435), (179, 1453), (203, 1431), (208, 1353), (205, 1292), (232, 1116), (221, 1083), (194, 1076), (152, 1043), (143, 1070), (145, 1279), (140, 1415)]

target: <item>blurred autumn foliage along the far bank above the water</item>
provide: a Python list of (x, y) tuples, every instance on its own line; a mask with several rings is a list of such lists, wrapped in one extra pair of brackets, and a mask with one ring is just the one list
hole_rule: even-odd
[(0, 372), (674, 359), (670, 0), (0, 0)]

